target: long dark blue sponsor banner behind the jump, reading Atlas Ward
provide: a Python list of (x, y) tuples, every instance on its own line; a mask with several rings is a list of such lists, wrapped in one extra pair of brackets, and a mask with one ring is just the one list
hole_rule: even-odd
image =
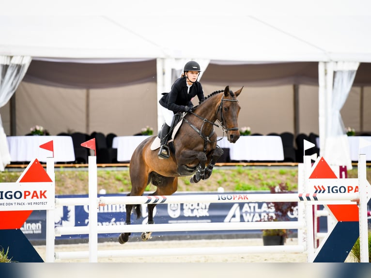
[[(236, 192), (233, 192), (236, 193)], [(243, 192), (246, 194), (246, 192)], [(251, 192), (249, 194), (269, 193)], [(175, 193), (185, 195), (189, 193)], [(216, 193), (202, 193), (216, 194)], [(123, 196), (123, 194), (106, 194), (104, 196)], [(87, 198), (88, 195), (63, 195), (57, 198)], [(213, 223), (213, 222), (258, 222), (268, 215), (274, 215), (274, 209), (269, 208), (269, 202), (236, 202), (236, 203), (209, 203), (194, 202), (180, 204), (157, 204), (154, 210), (155, 223)], [(132, 213), (131, 224), (146, 224), (148, 211), (147, 205), (142, 206), (142, 216), (137, 219)], [(292, 221), (297, 221), (296, 209), (293, 215), (289, 215)], [(100, 206), (98, 210), (98, 225), (112, 226), (124, 225), (126, 210), (124, 204)], [(87, 226), (89, 222), (89, 206), (63, 206), (55, 211), (55, 227)], [(34, 211), (22, 227), (22, 231), (30, 240), (45, 240), (46, 234), (46, 211)], [(149, 229), (150, 230), (150, 229)], [(143, 231), (150, 232), (150, 231)], [(189, 231), (189, 232), (155, 232), (152, 237), (161, 236), (187, 236), (187, 235), (222, 235), (222, 234), (255, 234), (259, 236), (261, 230), (243, 231)], [(141, 233), (132, 233), (131, 237), (140, 237)], [(98, 238), (117, 237), (119, 233), (98, 234)], [(88, 234), (62, 235), (56, 240), (85, 239)]]

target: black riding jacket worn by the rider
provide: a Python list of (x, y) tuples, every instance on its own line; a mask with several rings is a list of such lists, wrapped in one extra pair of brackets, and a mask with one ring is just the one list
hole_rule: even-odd
[(186, 85), (186, 78), (187, 77), (180, 77), (176, 79), (171, 86), (170, 93), (163, 93), (164, 96), (159, 100), (161, 106), (173, 111), (174, 114), (177, 112), (185, 112), (185, 106), (192, 107), (193, 104), (191, 99), (196, 95), (199, 101), (205, 99), (199, 81), (194, 82), (189, 88), (189, 93), (187, 93), (188, 87)]

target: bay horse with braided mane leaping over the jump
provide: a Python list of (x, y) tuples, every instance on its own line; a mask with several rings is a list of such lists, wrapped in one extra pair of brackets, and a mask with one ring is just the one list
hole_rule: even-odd
[[(236, 142), (240, 138), (238, 114), (241, 109), (237, 96), (243, 87), (233, 93), (227, 86), (224, 90), (208, 95), (195, 107), (194, 112), (183, 116), (183, 123), (170, 147), (170, 157), (159, 159), (158, 150), (151, 150), (157, 136), (143, 140), (135, 149), (130, 160), (131, 191), (127, 196), (141, 196), (149, 183), (155, 185), (156, 191), (150, 195), (166, 196), (173, 194), (178, 187), (178, 177), (191, 176), (191, 183), (208, 179), (217, 159), (223, 150), (216, 145), (214, 127), (220, 127), (227, 135), (228, 141)], [(218, 122), (220, 125), (216, 124)], [(153, 211), (155, 203), (147, 205), (148, 222), (154, 224)], [(132, 208), (137, 217), (141, 217), (140, 204), (126, 204), (125, 224), (129, 225)], [(148, 240), (152, 232), (143, 232), (142, 240)], [(121, 233), (119, 242), (124, 244), (130, 232)]]

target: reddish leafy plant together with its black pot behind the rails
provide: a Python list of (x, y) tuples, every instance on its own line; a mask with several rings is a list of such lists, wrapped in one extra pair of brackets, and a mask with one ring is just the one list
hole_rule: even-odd
[[(293, 193), (284, 183), (268, 187), (271, 194)], [(297, 202), (271, 202), (268, 208), (274, 211), (274, 214), (269, 214), (263, 221), (289, 221), (288, 213), (293, 213), (296, 206)], [(287, 237), (286, 229), (263, 230), (263, 245), (284, 245)]]

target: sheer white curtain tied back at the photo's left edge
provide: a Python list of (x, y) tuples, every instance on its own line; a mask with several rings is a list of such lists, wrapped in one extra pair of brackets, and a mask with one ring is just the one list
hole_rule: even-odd
[[(3, 107), (15, 93), (31, 63), (29, 56), (0, 56), (0, 107)], [(6, 134), (0, 116), (0, 171), (10, 163)]]

